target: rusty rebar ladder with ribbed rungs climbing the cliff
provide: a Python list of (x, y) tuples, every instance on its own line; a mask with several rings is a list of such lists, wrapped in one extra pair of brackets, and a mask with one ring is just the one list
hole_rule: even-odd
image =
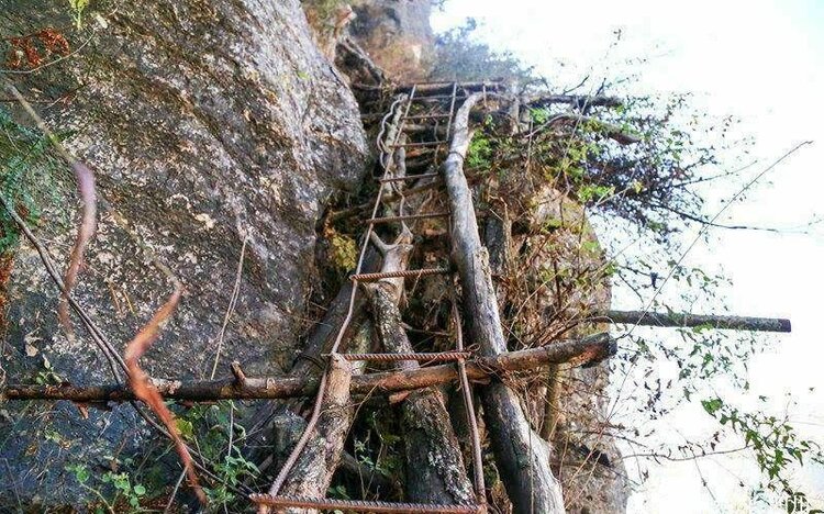
[[(338, 348), (341, 346), (341, 343), (343, 340), (344, 334), (349, 326), (349, 323), (352, 322), (353, 315), (354, 315), (354, 306), (355, 306), (355, 298), (358, 294), (358, 284), (366, 283), (366, 282), (375, 282), (385, 278), (396, 278), (396, 277), (413, 277), (413, 278), (421, 278), (426, 276), (433, 276), (433, 275), (452, 275), (453, 271), (449, 267), (437, 267), (437, 268), (423, 268), (423, 269), (416, 269), (416, 270), (400, 270), (400, 271), (389, 271), (389, 272), (376, 272), (376, 273), (364, 273), (363, 271), (363, 265), (364, 265), (364, 258), (366, 256), (366, 249), (370, 244), (370, 237), (372, 235), (372, 232), (375, 230), (376, 225), (379, 224), (388, 224), (388, 223), (405, 223), (407, 221), (413, 221), (413, 220), (424, 220), (424, 219), (433, 219), (433, 217), (447, 217), (449, 213), (446, 212), (437, 212), (437, 213), (414, 213), (414, 214), (404, 214), (404, 204), (405, 199), (403, 194), (400, 194), (400, 209), (399, 209), (399, 215), (397, 216), (385, 216), (380, 217), (378, 216), (378, 211), (381, 208), (381, 201), (383, 197), (383, 191), (387, 189), (387, 185), (391, 182), (397, 181), (403, 181), (403, 180), (416, 180), (422, 178), (433, 178), (437, 179), (439, 177), (439, 174), (437, 172), (427, 172), (427, 174), (419, 174), (419, 175), (410, 175), (410, 176), (403, 176), (403, 177), (392, 177), (392, 165), (393, 165), (393, 155), (394, 150), (397, 148), (402, 147), (434, 147), (433, 153), (433, 165), (438, 166), (437, 163), (437, 156), (438, 153), (446, 148), (448, 152), (448, 146), (450, 144), (450, 131), (452, 131), (452, 123), (453, 118), (455, 115), (455, 109), (456, 109), (456, 102), (458, 100), (458, 83), (454, 82), (452, 85), (452, 93), (446, 96), (431, 96), (431, 97), (415, 97), (417, 89), (417, 85), (413, 85), (408, 96), (400, 96), (398, 97), (392, 105), (389, 108), (388, 113), (383, 116), (381, 120), (380, 125), (380, 132), (378, 134), (377, 138), (377, 145), (381, 154), (381, 166), (383, 168), (383, 176), (379, 179), (380, 187), (378, 188), (378, 193), (375, 199), (375, 204), (372, 208), (371, 216), (366, 222), (366, 231), (364, 233), (361, 245), (360, 245), (360, 254), (358, 257), (357, 266), (355, 269), (354, 275), (352, 275), (350, 280), (354, 282), (352, 288), (352, 294), (349, 297), (349, 308), (348, 312), (346, 314), (346, 317), (341, 325), (341, 329), (337, 333), (337, 336), (335, 337), (335, 342), (332, 346), (332, 349), (330, 351), (330, 358), (332, 356), (339, 356), (345, 360), (349, 361), (403, 361), (403, 360), (415, 360), (415, 361), (426, 361), (426, 362), (446, 362), (446, 361), (454, 361), (456, 362), (458, 367), (458, 377), (460, 380), (460, 389), (463, 392), (463, 399), (467, 412), (467, 423), (469, 425), (470, 431), (470, 437), (471, 437), (471, 448), (472, 448), (472, 487), (475, 489), (476, 494), (476, 503), (474, 505), (464, 505), (464, 504), (425, 504), (425, 503), (398, 503), (398, 502), (381, 502), (381, 501), (357, 501), (357, 500), (337, 500), (337, 499), (326, 499), (326, 498), (301, 498), (301, 496), (290, 496), (290, 495), (281, 495), (279, 494), (280, 489), (282, 488), (289, 472), (293, 468), (294, 463), (297, 462), (300, 454), (303, 451), (307, 443), (309, 442), (309, 438), (311, 437), (312, 432), (314, 431), (318, 420), (321, 415), (322, 411), (322, 404), (324, 399), (324, 390), (326, 386), (326, 381), (329, 379), (329, 367), (324, 370), (324, 373), (321, 378), (321, 383), (318, 388), (318, 395), (315, 396), (314, 407), (312, 411), (312, 415), (307, 423), (307, 427), (303, 431), (303, 434), (301, 435), (300, 439), (296, 444), (294, 448), (292, 449), (292, 452), (287, 458), (286, 462), (283, 463), (283, 467), (278, 472), (278, 476), (276, 477), (275, 481), (272, 482), (272, 485), (268, 492), (268, 494), (252, 494), (249, 495), (249, 499), (258, 504), (259, 506), (266, 506), (266, 507), (274, 507), (274, 509), (288, 509), (288, 507), (299, 507), (299, 509), (339, 509), (339, 510), (348, 510), (348, 511), (355, 511), (355, 512), (389, 512), (389, 513), (401, 513), (401, 512), (408, 512), (408, 513), (479, 513), (479, 512), (486, 512), (486, 488), (483, 484), (483, 462), (481, 458), (481, 444), (480, 444), (480, 436), (478, 433), (478, 421), (476, 418), (475, 414), (475, 405), (472, 402), (472, 393), (469, 386), (469, 378), (467, 377), (466, 372), (466, 359), (471, 356), (470, 351), (467, 351), (467, 349), (464, 346), (464, 337), (461, 332), (461, 321), (460, 321), (460, 314), (458, 312), (458, 305), (457, 301), (455, 299), (455, 294), (452, 294), (452, 322), (455, 325), (455, 349), (452, 351), (442, 351), (442, 353), (426, 353), (426, 354), (339, 354)], [(404, 98), (405, 97), (405, 98)], [(449, 112), (448, 114), (443, 113), (436, 113), (436, 114), (424, 114), (424, 115), (410, 115), (410, 109), (415, 101), (428, 101), (428, 100), (436, 100), (436, 101), (443, 101), (443, 100), (449, 100)], [(383, 141), (385, 132), (387, 133), (386, 136), (389, 138), (389, 133), (387, 132), (387, 123), (388, 120), (393, 114), (399, 114), (399, 112), (396, 111), (396, 109), (402, 109), (402, 114), (398, 118), (397, 125), (396, 125), (396, 133), (392, 141), (387, 144)], [(405, 126), (405, 123), (408, 120), (447, 120), (446, 125), (446, 134), (443, 138), (438, 137), (438, 122), (436, 121), (433, 131), (434, 137), (436, 141), (432, 142), (423, 142), (423, 143), (400, 143), (401, 141), (401, 134), (403, 134), (403, 128)]]

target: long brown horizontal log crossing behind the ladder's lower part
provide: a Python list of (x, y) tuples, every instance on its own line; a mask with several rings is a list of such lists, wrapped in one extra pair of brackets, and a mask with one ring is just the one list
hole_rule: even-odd
[[(606, 333), (577, 340), (559, 340), (539, 348), (510, 351), (494, 357), (468, 360), (467, 376), (483, 382), (512, 372), (535, 372), (549, 364), (569, 362), (582, 366), (601, 361), (616, 351), (616, 344)], [(455, 365), (419, 368), (409, 371), (381, 372), (352, 378), (353, 394), (392, 394), (428, 388), (458, 380)], [(234, 378), (209, 381), (152, 379), (165, 399), (189, 401), (286, 399), (309, 396), (318, 391), (315, 378), (265, 377)], [(129, 387), (105, 386), (27, 386), (9, 384), (0, 390), (7, 400), (71, 400), (81, 403), (124, 402), (134, 400)]]

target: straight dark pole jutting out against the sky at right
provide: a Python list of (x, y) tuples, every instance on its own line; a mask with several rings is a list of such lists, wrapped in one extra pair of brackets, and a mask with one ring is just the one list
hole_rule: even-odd
[(790, 320), (781, 317), (725, 316), (677, 312), (606, 311), (597, 314), (589, 321), (643, 326), (705, 326), (708, 328), (755, 332), (791, 332), (792, 328)]

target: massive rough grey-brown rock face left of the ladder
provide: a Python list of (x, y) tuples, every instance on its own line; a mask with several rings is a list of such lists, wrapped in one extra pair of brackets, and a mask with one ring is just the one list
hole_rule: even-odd
[[(219, 375), (235, 359), (253, 373), (278, 372), (293, 357), (316, 281), (315, 223), (334, 193), (358, 183), (367, 160), (355, 100), (315, 46), (299, 2), (93, 4), (79, 31), (68, 29), (63, 2), (2, 0), (0, 11), (3, 36), (67, 27), (78, 51), (12, 78), (31, 99), (74, 91), (44, 114), (71, 131), (66, 143), (96, 170), (105, 200), (79, 302), (122, 348), (170, 292), (154, 255), (187, 293), (145, 368), (208, 378), (246, 239)], [(71, 180), (57, 175), (58, 199), (36, 232), (64, 264), (78, 201)], [(57, 327), (56, 289), (26, 244), (13, 250), (7, 287), (9, 380), (110, 379), (79, 324), (74, 342)], [(127, 406), (92, 410), (86, 421), (70, 404), (0, 406), (8, 478), (0, 505), (85, 495), (66, 465), (107, 466), (107, 454), (129, 455), (143, 442)]]

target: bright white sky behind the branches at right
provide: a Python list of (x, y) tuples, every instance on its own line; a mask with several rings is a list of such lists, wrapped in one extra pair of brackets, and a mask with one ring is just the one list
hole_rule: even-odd
[[(760, 163), (754, 172), (798, 143), (814, 141), (720, 221), (789, 227), (824, 216), (824, 1), (448, 0), (433, 24), (444, 30), (467, 16), (482, 23), (480, 35), (491, 46), (558, 77), (558, 89), (586, 75), (598, 85), (599, 77), (638, 72), (634, 92), (697, 93), (695, 104), (711, 114), (742, 119), (742, 130), (757, 143), (754, 154)], [(621, 42), (610, 49), (617, 30)], [(649, 60), (630, 65), (634, 57)], [(711, 246), (699, 244), (689, 260), (723, 267), (734, 281), (727, 291), (732, 312), (792, 320), (793, 333), (778, 337), (775, 349), (751, 364), (753, 395), (769, 395), (780, 413), (784, 393), (792, 392), (798, 404), (789, 410), (798, 429), (824, 444), (822, 226), (808, 235), (714, 231)], [(621, 308), (641, 306), (623, 303), (630, 297), (621, 291), (615, 295)], [(700, 407), (682, 409), (667, 423), (689, 432), (704, 427), (704, 418)], [(650, 471), (650, 480), (631, 499), (631, 512), (754, 509), (746, 489), (737, 485), (739, 479), (754, 480), (741, 457)], [(711, 491), (702, 487), (702, 476), (713, 484)], [(798, 478), (824, 498), (824, 471), (808, 470)]]

